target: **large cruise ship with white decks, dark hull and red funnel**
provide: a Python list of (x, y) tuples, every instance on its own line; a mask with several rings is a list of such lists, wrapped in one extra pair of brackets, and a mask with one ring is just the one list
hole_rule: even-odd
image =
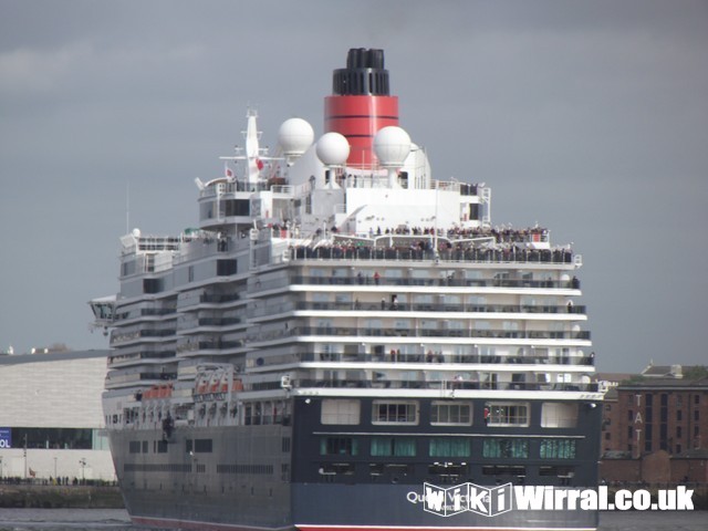
[(198, 223), (122, 237), (119, 291), (91, 301), (133, 522), (595, 529), (511, 499), (597, 485), (582, 257), (433, 177), (382, 50), (334, 70), (316, 139), (290, 118), (268, 153), (257, 118), (195, 179)]

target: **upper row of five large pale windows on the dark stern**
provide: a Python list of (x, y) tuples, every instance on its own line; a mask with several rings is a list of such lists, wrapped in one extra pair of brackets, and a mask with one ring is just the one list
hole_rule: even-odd
[[(528, 403), (487, 402), (482, 417), (487, 426), (529, 426), (531, 407)], [(361, 424), (361, 402), (356, 399), (322, 400), (323, 425)], [(433, 426), (471, 426), (473, 408), (471, 402), (437, 400), (430, 405), (429, 421)], [(577, 404), (543, 403), (541, 427), (568, 428), (577, 423)], [(372, 406), (374, 425), (420, 424), (420, 405), (417, 400), (374, 400)]]

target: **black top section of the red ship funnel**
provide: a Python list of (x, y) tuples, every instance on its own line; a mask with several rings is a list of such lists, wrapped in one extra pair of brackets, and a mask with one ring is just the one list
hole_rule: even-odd
[(346, 69), (332, 74), (332, 93), (336, 96), (388, 96), (388, 71), (384, 69), (384, 51), (352, 48)]

